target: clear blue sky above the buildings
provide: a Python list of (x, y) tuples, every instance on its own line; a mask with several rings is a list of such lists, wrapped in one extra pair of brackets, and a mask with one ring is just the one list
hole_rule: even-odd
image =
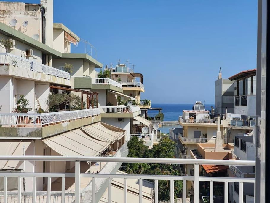
[(129, 59), (153, 103), (214, 103), (220, 66), (223, 78), (256, 67), (257, 1), (55, 0), (54, 22), (104, 66)]

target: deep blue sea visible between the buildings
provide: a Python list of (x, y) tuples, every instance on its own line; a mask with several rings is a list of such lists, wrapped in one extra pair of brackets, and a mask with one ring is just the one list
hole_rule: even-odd
[[(183, 115), (183, 110), (192, 110), (194, 104), (151, 104), (152, 108), (162, 108), (164, 121), (176, 121), (178, 117)], [(210, 110), (213, 104), (205, 104), (205, 109)], [(147, 115), (150, 117), (156, 116), (158, 110), (148, 110)], [(161, 133), (169, 133), (170, 128), (180, 128), (180, 125), (165, 125), (159, 128)]]

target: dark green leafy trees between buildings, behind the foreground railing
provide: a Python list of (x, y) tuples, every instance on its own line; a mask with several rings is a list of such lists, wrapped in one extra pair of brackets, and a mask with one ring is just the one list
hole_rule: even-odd
[[(128, 157), (146, 158), (175, 158), (175, 142), (168, 136), (163, 136), (159, 144), (148, 149), (142, 139), (132, 137), (127, 143), (129, 148)], [(149, 164), (149, 163), (123, 163), (121, 170), (129, 174), (156, 174), (156, 175), (180, 175), (176, 164)], [(150, 180), (153, 182), (153, 180)], [(182, 181), (174, 181), (175, 198), (182, 191)], [(167, 202), (170, 200), (170, 181), (159, 180), (159, 200)]]

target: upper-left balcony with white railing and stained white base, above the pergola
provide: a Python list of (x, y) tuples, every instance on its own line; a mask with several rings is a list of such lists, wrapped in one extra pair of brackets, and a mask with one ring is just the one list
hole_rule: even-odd
[[(47, 76), (55, 76), (57, 78), (63, 78), (65, 80), (68, 80), (66, 82), (63, 81), (57, 82), (61, 84), (63, 83), (65, 85), (70, 85), (70, 74), (68, 72), (44, 64), (39, 64), (37, 62), (21, 58), (10, 53), (0, 53), (0, 64), (9, 66), (9, 70), (4, 71), (3, 73), (1, 73), (1, 75), (8, 74), (20, 78), (29, 78), (29, 79), (36, 79), (39, 81), (48, 81), (55, 83), (55, 79), (52, 79), (50, 77), (44, 77), (43, 75), (37, 74), (43, 73), (46, 74)], [(16, 67), (19, 68), (19, 71), (21, 71), (21, 73), (17, 71), (18, 69), (15, 69)], [(25, 71), (25, 69), (27, 71)]]

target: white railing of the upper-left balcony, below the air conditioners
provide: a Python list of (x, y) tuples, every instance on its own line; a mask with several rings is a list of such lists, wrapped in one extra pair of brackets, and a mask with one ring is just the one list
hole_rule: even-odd
[(28, 59), (15, 56), (10, 53), (0, 53), (0, 64), (14, 65), (20, 68), (26, 68), (26, 69), (36, 71), (39, 73), (45, 73), (47, 75), (54, 75), (59, 78), (65, 78), (65, 79), (70, 80), (70, 74), (68, 72), (65, 72), (63, 70), (59, 70), (57, 68), (53, 68), (50, 66), (46, 66), (43, 64), (39, 64), (39, 63), (30, 61)]

